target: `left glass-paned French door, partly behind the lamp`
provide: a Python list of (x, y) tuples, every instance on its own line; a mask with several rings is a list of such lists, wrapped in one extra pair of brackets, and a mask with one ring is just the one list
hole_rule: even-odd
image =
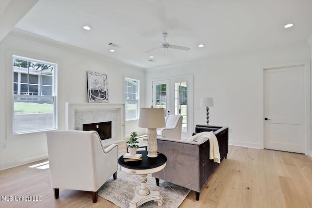
[(163, 108), (165, 116), (170, 114), (170, 80), (153, 81), (153, 106)]

